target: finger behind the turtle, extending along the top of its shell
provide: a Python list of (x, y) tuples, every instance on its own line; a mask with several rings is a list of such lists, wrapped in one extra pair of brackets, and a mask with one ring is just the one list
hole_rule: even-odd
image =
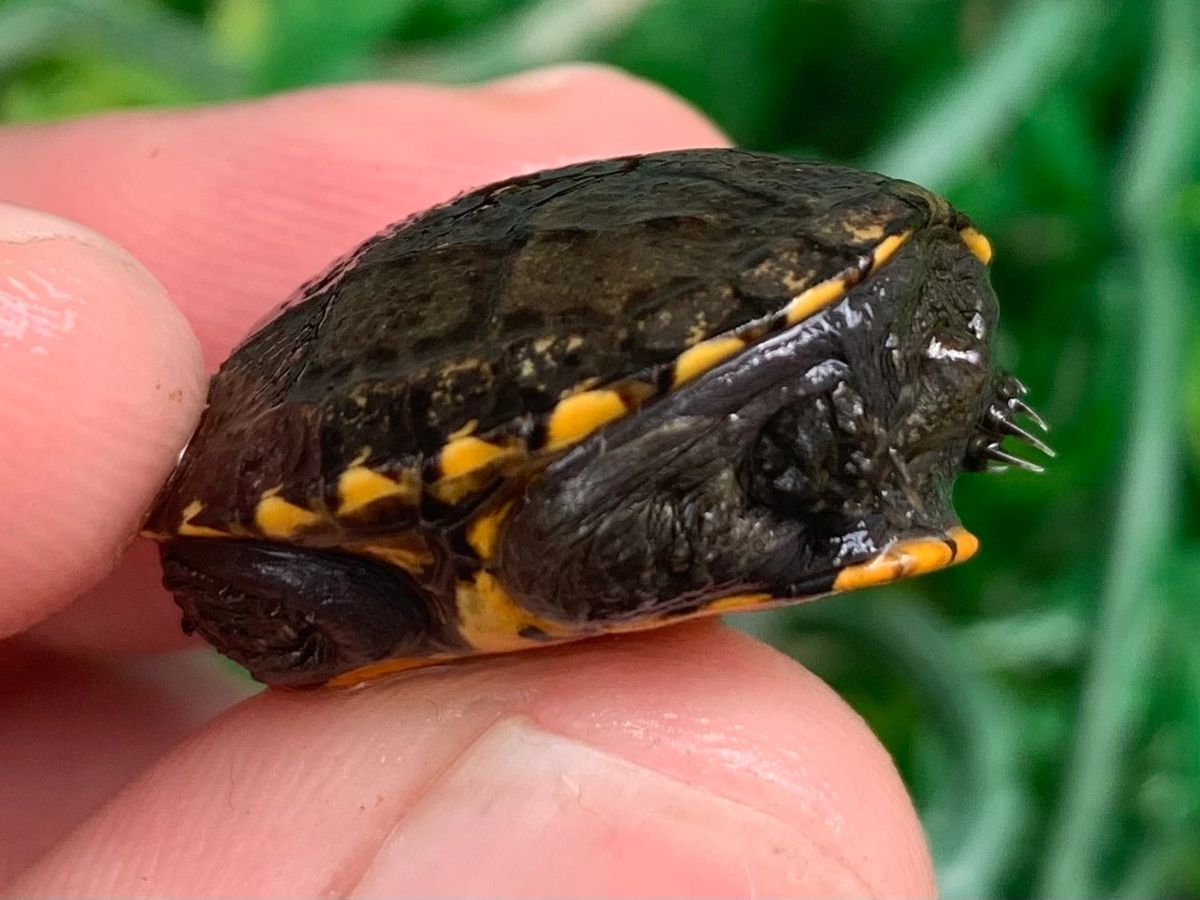
[[(119, 240), (170, 290), (212, 366), (299, 283), (410, 212), (520, 172), (719, 143), (658, 88), (550, 70), (482, 89), (359, 85), (10, 131), (0, 197)], [(158, 578), (142, 548), (36, 637), (70, 650), (178, 644)]]

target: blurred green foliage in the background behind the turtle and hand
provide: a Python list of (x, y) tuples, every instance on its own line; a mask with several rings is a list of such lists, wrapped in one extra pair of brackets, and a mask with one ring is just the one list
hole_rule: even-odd
[(564, 60), (986, 230), (1058, 460), (964, 479), (970, 565), (738, 624), (871, 722), (946, 895), (1200, 895), (1193, 0), (0, 0), (0, 121)]

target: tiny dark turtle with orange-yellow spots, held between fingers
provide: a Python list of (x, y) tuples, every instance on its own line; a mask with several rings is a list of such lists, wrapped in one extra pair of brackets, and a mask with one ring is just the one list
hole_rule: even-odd
[[(146, 529), (185, 626), (287, 684), (934, 569), (974, 546), (954, 475), (1026, 434), (990, 368), (990, 257), (920, 187), (763, 154), (492, 185), (371, 239), (239, 346)], [(936, 376), (898, 350), (920, 341)], [(686, 440), (689, 478), (737, 481), (721, 540), (696, 522), (730, 497), (659, 472)], [(905, 458), (884, 478), (856, 442)], [(713, 506), (640, 528), (647, 484)], [(817, 518), (820, 550), (774, 546)]]

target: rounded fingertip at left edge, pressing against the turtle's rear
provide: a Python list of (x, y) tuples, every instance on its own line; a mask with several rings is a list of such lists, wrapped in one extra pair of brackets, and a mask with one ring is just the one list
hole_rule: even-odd
[(127, 253), (0, 204), (0, 637), (113, 568), (203, 391), (187, 323)]

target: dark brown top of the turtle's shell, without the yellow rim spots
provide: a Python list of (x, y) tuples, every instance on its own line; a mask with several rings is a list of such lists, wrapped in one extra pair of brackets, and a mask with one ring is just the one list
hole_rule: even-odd
[[(254, 534), (268, 494), (336, 544), (347, 469), (428, 482), (462, 433), (512, 434), (524, 458), (564, 397), (637, 378), (667, 390), (689, 347), (766, 330), (806, 288), (865, 271), (881, 241), (932, 222), (967, 224), (907, 182), (736, 150), (464, 194), (365, 244), (234, 352), (148, 529)], [(372, 521), (415, 521), (419, 496), (396, 492)]]

